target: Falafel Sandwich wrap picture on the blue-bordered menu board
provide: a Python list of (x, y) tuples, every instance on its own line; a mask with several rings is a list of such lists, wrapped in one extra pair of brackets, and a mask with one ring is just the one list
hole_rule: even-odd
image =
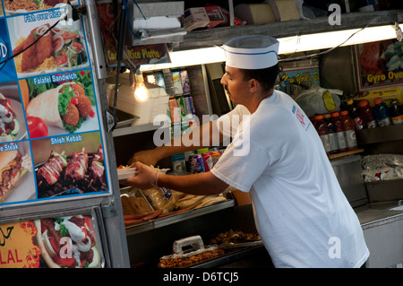
[(30, 138), (99, 130), (90, 70), (20, 80), (20, 88)]

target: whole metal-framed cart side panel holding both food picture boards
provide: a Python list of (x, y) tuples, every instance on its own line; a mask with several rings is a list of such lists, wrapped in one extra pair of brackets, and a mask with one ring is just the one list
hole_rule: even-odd
[(0, 267), (127, 267), (95, 3), (4, 3), (0, 26)]

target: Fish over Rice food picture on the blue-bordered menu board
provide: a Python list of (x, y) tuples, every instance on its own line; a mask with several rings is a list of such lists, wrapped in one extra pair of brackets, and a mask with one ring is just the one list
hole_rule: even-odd
[(7, 18), (18, 77), (90, 66), (81, 21), (60, 21), (55, 11)]

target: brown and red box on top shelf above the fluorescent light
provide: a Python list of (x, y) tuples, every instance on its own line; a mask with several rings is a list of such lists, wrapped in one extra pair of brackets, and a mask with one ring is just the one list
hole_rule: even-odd
[(224, 22), (219, 6), (195, 7), (184, 11), (184, 29), (213, 28)]

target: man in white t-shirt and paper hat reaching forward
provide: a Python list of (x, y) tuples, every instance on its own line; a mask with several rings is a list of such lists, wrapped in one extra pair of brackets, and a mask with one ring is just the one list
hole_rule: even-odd
[[(233, 141), (213, 169), (169, 176), (136, 162), (141, 174), (121, 183), (193, 195), (219, 194), (234, 186), (250, 192), (257, 230), (276, 267), (360, 267), (369, 256), (363, 231), (322, 141), (296, 102), (273, 90), (278, 49), (279, 42), (266, 36), (237, 37), (224, 45), (221, 83), (237, 106), (216, 122), (216, 130)], [(153, 152), (160, 159), (191, 149)], [(152, 156), (141, 152), (133, 159), (146, 155)]]

